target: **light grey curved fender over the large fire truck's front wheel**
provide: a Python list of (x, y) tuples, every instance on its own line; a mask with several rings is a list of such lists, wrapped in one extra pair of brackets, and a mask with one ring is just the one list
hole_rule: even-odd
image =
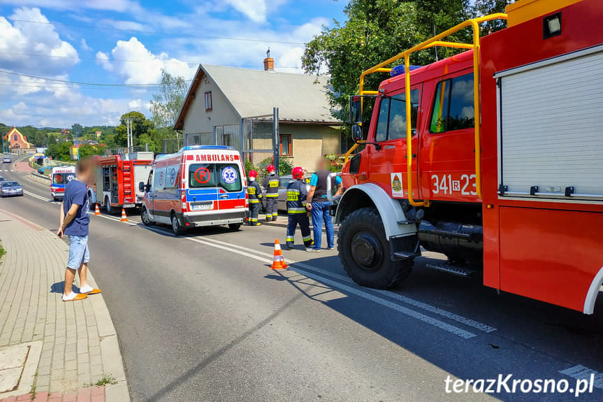
[[(406, 220), (402, 205), (398, 200), (392, 199), (384, 189), (372, 183), (363, 183), (355, 185), (347, 189), (340, 199), (337, 213), (335, 213), (335, 223), (339, 224), (348, 213), (358, 209), (354, 206), (358, 199), (358, 192), (365, 194), (370, 198), (379, 215), (381, 216), (383, 227), (385, 229), (386, 238), (392, 236), (410, 236), (416, 234), (416, 225), (405, 224), (400, 225), (398, 222)], [(364, 207), (361, 206), (360, 208)]]

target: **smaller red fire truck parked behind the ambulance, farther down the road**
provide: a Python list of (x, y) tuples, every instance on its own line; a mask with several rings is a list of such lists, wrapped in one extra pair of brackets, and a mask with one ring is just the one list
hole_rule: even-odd
[(143, 206), (145, 193), (138, 190), (138, 182), (147, 181), (153, 163), (153, 152), (110, 155), (99, 157), (97, 161), (99, 169), (91, 199), (104, 206), (110, 214), (119, 213), (122, 207)]

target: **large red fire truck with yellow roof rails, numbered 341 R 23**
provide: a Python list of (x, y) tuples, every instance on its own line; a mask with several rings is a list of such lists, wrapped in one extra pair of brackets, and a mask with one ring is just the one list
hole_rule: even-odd
[[(603, 283), (602, 17), (600, 0), (520, 0), (362, 73), (335, 216), (352, 279), (390, 287), (423, 248), (448, 257), (430, 268), (483, 267), (488, 287), (593, 313)], [(507, 28), (480, 38), (494, 19)], [(446, 41), (460, 29), (472, 43)], [(411, 66), (433, 46), (466, 51)], [(365, 89), (372, 73), (391, 76)]]

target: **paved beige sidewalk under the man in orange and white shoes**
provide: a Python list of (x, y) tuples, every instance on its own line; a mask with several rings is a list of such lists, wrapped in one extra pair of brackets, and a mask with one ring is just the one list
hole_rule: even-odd
[(1, 209), (0, 241), (0, 402), (130, 401), (102, 294), (61, 301), (66, 243)]

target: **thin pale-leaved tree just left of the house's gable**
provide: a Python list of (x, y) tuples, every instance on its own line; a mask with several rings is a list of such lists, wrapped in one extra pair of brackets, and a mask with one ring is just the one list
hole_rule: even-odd
[(183, 77), (172, 76), (161, 69), (161, 87), (159, 87), (159, 93), (154, 94), (151, 101), (151, 113), (155, 127), (158, 129), (174, 127), (188, 88)]

